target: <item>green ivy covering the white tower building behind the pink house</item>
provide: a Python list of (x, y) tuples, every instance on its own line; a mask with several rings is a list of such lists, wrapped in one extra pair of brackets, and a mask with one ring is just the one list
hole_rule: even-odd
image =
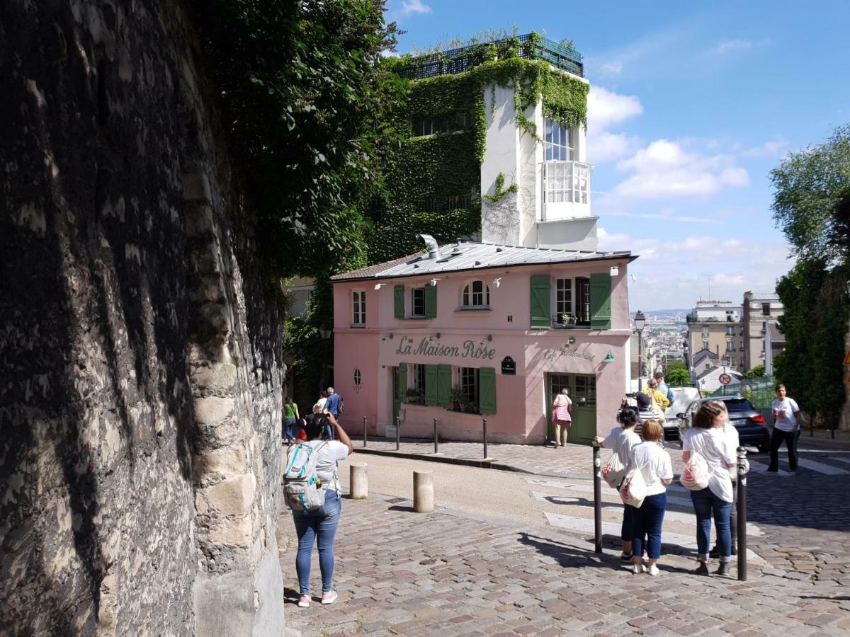
[[(416, 233), (450, 241), (480, 232), (480, 169), (489, 123), (484, 96), (487, 89), (491, 116), (496, 87), (515, 89), (516, 124), (537, 141), (541, 140), (535, 123), (525, 111), (539, 100), (544, 116), (558, 124), (587, 127), (587, 83), (541, 59), (519, 57), (520, 51), (529, 54), (535, 45), (534, 38), (520, 42), (516, 37), (482, 43), (456, 56), (464, 59), (468, 70), (408, 82), (405, 109), (392, 121), (404, 139), (386, 157), (382, 194), (372, 206), (371, 228), (366, 232), (369, 262), (388, 261), (416, 251), (420, 247), (414, 240)], [(456, 59), (446, 58), (444, 62)], [(416, 63), (417, 59), (410, 56), (388, 61), (395, 70)], [(415, 122), (451, 114), (465, 117), (462, 131), (416, 137), (415, 132), (422, 131), (414, 130)], [(485, 200), (496, 202), (516, 192), (516, 183), (504, 189), (504, 175), (500, 177), (496, 194), (485, 194)], [(462, 205), (457, 205), (459, 200)]]

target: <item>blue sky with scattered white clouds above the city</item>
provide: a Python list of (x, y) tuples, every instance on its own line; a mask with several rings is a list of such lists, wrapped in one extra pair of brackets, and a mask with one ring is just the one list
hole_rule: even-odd
[(793, 265), (768, 173), (850, 121), (850, 2), (390, 0), (387, 17), (401, 53), (512, 25), (575, 41), (600, 249), (641, 255), (632, 310), (741, 302)]

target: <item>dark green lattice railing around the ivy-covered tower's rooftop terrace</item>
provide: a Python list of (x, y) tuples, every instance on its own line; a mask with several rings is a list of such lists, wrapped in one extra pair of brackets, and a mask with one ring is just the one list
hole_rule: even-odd
[(419, 55), (412, 59), (410, 64), (401, 66), (399, 75), (411, 80), (421, 80), (425, 77), (463, 73), (488, 59), (493, 59), (493, 47), (496, 48), (496, 59), (500, 59), (503, 57), (503, 54), (500, 53), (507, 53), (508, 46), (513, 40), (519, 41), (516, 54), (520, 58), (542, 59), (558, 69), (569, 71), (577, 76), (584, 76), (584, 64), (578, 51), (562, 42), (555, 42), (548, 37), (532, 33), (526, 33), (523, 36), (504, 37), (493, 42), (471, 44), (467, 47), (451, 48), (439, 53)]

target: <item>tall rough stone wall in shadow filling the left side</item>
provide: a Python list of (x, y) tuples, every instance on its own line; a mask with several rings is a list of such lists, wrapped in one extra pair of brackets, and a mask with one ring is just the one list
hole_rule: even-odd
[(0, 5), (0, 634), (282, 634), (282, 321), (179, 3)]

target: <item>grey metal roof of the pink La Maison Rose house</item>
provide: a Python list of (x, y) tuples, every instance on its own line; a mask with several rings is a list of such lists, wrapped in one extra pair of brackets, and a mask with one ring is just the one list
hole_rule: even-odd
[[(458, 241), (441, 245), (439, 257), (432, 259), (428, 254), (419, 254), (406, 260), (381, 263), (370, 268), (354, 270), (331, 277), (332, 281), (351, 279), (397, 279), (448, 272), (475, 271), (488, 268), (507, 268), (523, 265), (548, 263), (570, 263), (627, 259), (632, 262), (638, 256), (629, 251), (592, 252), (559, 250), (557, 248), (527, 248), (521, 245), (496, 245), (476, 241)], [(401, 262), (399, 262), (401, 261)]]

